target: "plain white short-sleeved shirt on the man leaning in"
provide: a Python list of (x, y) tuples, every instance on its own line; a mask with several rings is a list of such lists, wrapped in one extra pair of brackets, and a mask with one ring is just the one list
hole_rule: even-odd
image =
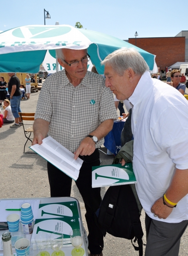
[(151, 206), (169, 187), (176, 168), (188, 168), (188, 101), (172, 86), (145, 72), (132, 96), (133, 169), (143, 209), (168, 223), (188, 219), (188, 195), (166, 219), (154, 217)]

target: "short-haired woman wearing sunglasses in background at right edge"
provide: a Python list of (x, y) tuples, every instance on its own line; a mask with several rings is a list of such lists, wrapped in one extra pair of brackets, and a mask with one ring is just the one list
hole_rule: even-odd
[(175, 89), (181, 92), (182, 95), (184, 95), (186, 90), (186, 85), (180, 83), (180, 80), (181, 80), (180, 70), (174, 69), (170, 74), (171, 74), (172, 82), (166, 82), (166, 83), (173, 86)]

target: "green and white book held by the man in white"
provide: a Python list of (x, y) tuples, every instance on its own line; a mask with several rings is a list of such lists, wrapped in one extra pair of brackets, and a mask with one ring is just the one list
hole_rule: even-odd
[(136, 183), (132, 163), (92, 167), (92, 188)]

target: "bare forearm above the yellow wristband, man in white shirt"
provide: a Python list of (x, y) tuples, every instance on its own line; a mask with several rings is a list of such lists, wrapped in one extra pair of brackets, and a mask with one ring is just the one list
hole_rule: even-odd
[(178, 203), (188, 194), (188, 169), (175, 171), (170, 187), (166, 191), (166, 198), (172, 203)]

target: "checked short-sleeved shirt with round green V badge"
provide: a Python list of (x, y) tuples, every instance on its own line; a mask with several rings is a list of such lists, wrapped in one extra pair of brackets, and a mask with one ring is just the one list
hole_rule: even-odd
[[(48, 135), (68, 150), (75, 152), (80, 142), (103, 121), (116, 119), (113, 93), (105, 87), (105, 78), (87, 71), (74, 87), (65, 70), (50, 75), (39, 95), (35, 119), (48, 122)], [(96, 143), (96, 148), (104, 139)]]

